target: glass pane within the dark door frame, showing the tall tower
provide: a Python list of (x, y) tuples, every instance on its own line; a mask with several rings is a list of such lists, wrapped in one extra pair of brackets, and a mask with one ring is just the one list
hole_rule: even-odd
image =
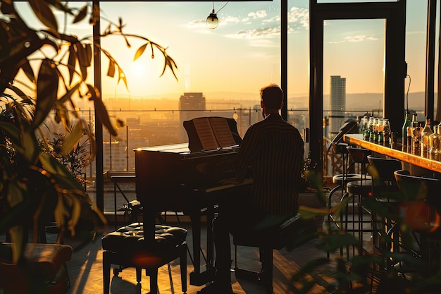
[(383, 116), (385, 20), (326, 20), (323, 116), (332, 138), (349, 118)]

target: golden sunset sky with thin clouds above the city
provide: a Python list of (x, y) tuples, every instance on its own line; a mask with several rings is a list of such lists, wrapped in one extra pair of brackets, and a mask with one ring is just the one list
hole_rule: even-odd
[[(424, 91), (426, 3), (426, 0), (407, 1), (406, 62), (411, 75), (410, 92)], [(70, 5), (80, 6), (74, 2)], [(309, 0), (288, 1), (289, 97), (307, 96), (309, 92), (308, 6)], [(205, 20), (212, 8), (219, 25), (209, 30)], [(103, 96), (167, 97), (168, 93), (217, 92), (236, 93), (229, 97), (245, 99), (250, 93), (251, 97), (259, 97), (264, 85), (280, 83), (279, 1), (109, 1), (101, 3), (101, 16), (101, 30), (106, 27), (106, 20), (116, 22), (121, 17), (125, 33), (148, 37), (166, 47), (178, 65), (178, 80), (169, 70), (159, 77), (163, 66), (159, 51), (154, 59), (146, 51), (134, 62), (135, 51), (143, 42), (132, 38), (128, 48), (121, 37), (104, 38), (101, 45), (123, 66), (129, 89), (121, 82), (118, 85), (116, 79), (104, 77)], [(347, 79), (347, 93), (383, 92), (384, 27), (384, 20), (325, 22), (324, 94), (329, 92), (330, 75)], [(70, 28), (78, 35), (91, 34), (86, 22)], [(108, 62), (105, 58), (101, 62), (106, 73)], [(406, 87), (409, 80), (406, 79)]]

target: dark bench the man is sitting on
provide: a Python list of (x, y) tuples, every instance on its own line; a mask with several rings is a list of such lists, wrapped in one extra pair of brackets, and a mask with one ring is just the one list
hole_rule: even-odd
[[(300, 214), (292, 216), (287, 221), (271, 226), (271, 229), (261, 231), (241, 232), (233, 235), (235, 245), (235, 276), (241, 278), (256, 279), (265, 287), (266, 293), (273, 293), (273, 250), (280, 250), (286, 247), (290, 240), (304, 231)], [(259, 247), (261, 271), (249, 271), (237, 266), (237, 246)]]

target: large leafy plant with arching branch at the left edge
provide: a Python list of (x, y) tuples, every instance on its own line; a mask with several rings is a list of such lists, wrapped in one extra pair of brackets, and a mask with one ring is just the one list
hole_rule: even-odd
[[(101, 214), (75, 179), (77, 167), (71, 162), (61, 164), (56, 158), (70, 161), (77, 156), (72, 152), (83, 152), (80, 145), (86, 140), (95, 145), (93, 131), (75, 111), (75, 98), (92, 101), (99, 121), (111, 135), (117, 135), (120, 121), (109, 118), (99, 89), (87, 80), (92, 55), (101, 52), (108, 61), (107, 75), (127, 87), (123, 68), (110, 51), (93, 37), (80, 39), (58, 27), (54, 11), (73, 23), (88, 20), (92, 27), (99, 20), (98, 6), (86, 4), (75, 9), (58, 0), (30, 0), (27, 4), (42, 29), (31, 27), (14, 1), (3, 0), (0, 6), (0, 233), (8, 232), (15, 243), (14, 262), (22, 257), (23, 235), (30, 223), (34, 235), (41, 223), (51, 219), (61, 231), (74, 234), (83, 217), (99, 219)], [(108, 21), (101, 37), (119, 35), (128, 47), (130, 38), (142, 40), (135, 59), (150, 47), (152, 58), (155, 51), (163, 56), (163, 73), (169, 68), (175, 76), (175, 61), (165, 48), (146, 37), (125, 34), (123, 27), (121, 19), (118, 23)], [(22, 76), (25, 80), (20, 80)], [(42, 123), (48, 118), (64, 130), (55, 144), (42, 135)], [(47, 149), (50, 154), (44, 152)], [(92, 148), (87, 161), (93, 157)]]

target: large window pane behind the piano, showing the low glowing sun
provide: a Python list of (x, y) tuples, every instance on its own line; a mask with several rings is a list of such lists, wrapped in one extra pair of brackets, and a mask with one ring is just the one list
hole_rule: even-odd
[[(242, 137), (250, 124), (261, 119), (261, 87), (272, 82), (280, 85), (277, 1), (109, 1), (100, 6), (101, 30), (105, 30), (107, 19), (121, 17), (123, 33), (130, 43), (129, 48), (121, 36), (101, 38), (101, 46), (111, 49), (128, 81), (125, 87), (123, 82), (117, 84), (115, 78), (107, 78), (108, 61), (101, 57), (102, 97), (112, 116), (126, 124), (118, 137), (104, 130), (104, 171), (134, 171), (132, 150), (136, 147), (188, 142), (182, 123), (194, 117), (235, 118)], [(206, 18), (212, 9), (218, 27), (210, 30)], [(306, 34), (304, 26), (302, 34)], [(135, 35), (166, 48), (178, 66), (177, 79), (170, 69), (161, 76), (164, 59), (156, 49), (154, 59), (151, 47), (147, 47), (133, 61), (137, 49), (146, 44), (145, 39)], [(304, 46), (306, 52), (306, 37)], [(303, 87), (307, 89), (307, 83)], [(294, 92), (299, 87), (290, 89)], [(299, 123), (300, 119), (292, 114), (290, 121)], [(113, 211), (113, 197), (105, 199), (104, 206), (106, 211)]]

